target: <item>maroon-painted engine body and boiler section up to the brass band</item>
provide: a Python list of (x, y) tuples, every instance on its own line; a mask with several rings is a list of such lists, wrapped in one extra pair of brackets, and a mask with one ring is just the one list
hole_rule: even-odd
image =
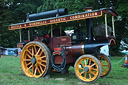
[[(75, 62), (74, 57), (79, 57), (82, 55), (82, 45), (72, 45), (71, 44), (71, 37), (65, 36), (65, 37), (55, 37), (50, 39), (49, 47), (51, 50), (54, 51), (54, 54), (58, 53), (58, 51), (61, 52), (61, 48), (57, 46), (64, 46), (64, 52), (66, 55), (66, 63), (73, 63)], [(55, 57), (55, 64), (61, 64), (62, 63), (62, 57), (61, 55), (56, 55)]]

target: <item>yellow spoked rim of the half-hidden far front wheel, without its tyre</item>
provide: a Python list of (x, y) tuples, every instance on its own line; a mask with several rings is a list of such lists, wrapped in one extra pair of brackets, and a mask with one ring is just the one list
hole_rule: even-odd
[(101, 63), (101, 69), (102, 69), (101, 76), (104, 76), (109, 72), (110, 63), (108, 59), (105, 57), (105, 55), (100, 54), (99, 57), (100, 57), (100, 63)]

